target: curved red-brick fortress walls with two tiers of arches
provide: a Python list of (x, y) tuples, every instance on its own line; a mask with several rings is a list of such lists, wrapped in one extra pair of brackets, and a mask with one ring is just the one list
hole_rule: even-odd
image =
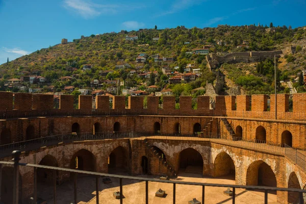
[[(7, 97), (5, 101), (1, 102), (6, 107), (2, 110), (12, 110), (12, 93), (0, 92), (0, 96)], [(46, 112), (48, 109), (53, 109), (51, 96), (16, 93), (14, 109), (24, 110), (27, 114), (32, 108)], [(275, 113), (273, 113), (275, 107), (273, 94), (270, 95), (270, 111), (267, 111), (267, 95), (241, 95), (236, 98), (235, 96), (217, 96), (216, 109), (210, 110), (209, 96), (199, 96), (197, 110), (193, 110), (192, 98), (181, 96), (180, 109), (176, 110), (175, 97), (173, 96), (163, 97), (163, 109), (159, 109), (159, 97), (157, 96), (147, 97), (146, 109), (143, 109), (143, 97), (129, 97), (128, 106), (125, 107), (125, 96), (115, 96), (113, 109), (120, 110), (118, 113), (133, 112), (125, 110), (128, 108), (135, 110), (135, 112), (136, 110), (143, 111), (140, 112), (143, 114), (122, 116), (107, 114), (71, 116), (70, 114), (61, 117), (52, 117), (52, 115), (28, 117), (29, 115), (24, 114), (15, 119), (8, 117), (0, 120), (0, 145), (55, 134), (71, 134), (72, 126), (77, 123), (80, 133), (122, 131), (131, 132), (132, 136), (134, 136), (132, 132), (148, 133), (148, 135), (176, 133), (197, 136), (198, 132), (201, 132), (199, 137), (216, 136), (228, 139), (228, 141), (233, 137), (241, 137), (242, 140), (252, 142), (256, 142), (258, 138), (264, 138), (265, 143), (274, 146), (282, 146), (286, 143), (299, 150), (306, 148), (306, 122), (301, 114), (305, 113), (306, 94), (293, 95), (293, 112), (289, 112), (289, 96), (278, 94), (277, 112), (279, 114), (277, 114), (277, 120), (274, 118)], [(250, 98), (252, 99), (251, 110), (249, 109)], [(61, 113), (63, 110), (63, 112), (69, 113), (68, 110), (73, 109), (73, 102), (72, 95), (61, 95), (61, 110), (56, 111)], [(91, 110), (91, 106), (91, 96), (79, 97), (79, 109)], [(109, 107), (108, 96), (96, 97), (96, 109), (101, 113), (114, 111)], [(97, 113), (99, 113), (98, 111)], [(282, 120), (288, 117), (292, 120)], [(229, 128), (232, 128), (234, 133), (231, 133)], [(260, 131), (258, 131), (259, 129)], [(7, 137), (8, 135), (9, 137)], [(201, 167), (201, 174), (213, 177), (233, 174), (236, 184), (241, 185), (296, 188), (298, 185), (302, 187), (306, 182), (306, 172), (286, 158), (284, 154), (271, 154), (265, 150), (255, 151), (248, 147), (224, 145), (214, 140), (177, 139), (177, 136), (168, 136), (166, 139), (147, 138), (152, 145), (163, 152), (166, 161), (173, 166), (175, 171), (184, 169), (188, 165), (192, 166), (191, 163), (196, 161), (195, 166), (196, 168)], [(197, 154), (193, 157), (195, 151)], [(21, 162), (39, 164), (46, 155), (52, 156), (48, 156), (49, 160), (47, 161), (56, 161), (52, 165), (56, 164), (64, 168), (75, 168), (75, 160), (80, 157), (85, 160), (82, 166), (84, 170), (113, 173), (119, 168), (134, 175), (143, 173), (171, 174), (141, 138), (131, 137), (131, 139), (58, 144), (24, 152)], [(191, 157), (193, 160), (186, 159)], [(202, 161), (199, 161), (199, 158), (202, 158)], [(8, 161), (10, 158), (4, 160)], [(144, 162), (147, 162), (146, 172), (144, 172)], [(33, 195), (33, 169), (20, 167), (20, 175), (22, 198), (27, 199)], [(260, 179), (258, 179), (259, 177)], [(59, 183), (69, 179), (69, 173), (59, 172)], [(281, 203), (292, 202), (290, 200), (292, 196), (296, 195), (277, 192), (277, 200)]]

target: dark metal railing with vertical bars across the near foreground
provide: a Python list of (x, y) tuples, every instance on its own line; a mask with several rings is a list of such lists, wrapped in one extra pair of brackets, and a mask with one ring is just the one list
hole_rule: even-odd
[[(66, 169), (66, 168), (60, 168), (60, 167), (51, 167), (51, 166), (43, 166), (43, 165), (37, 165), (37, 164), (25, 164), (25, 163), (19, 163), (20, 160), (20, 154), (21, 152), (16, 150), (12, 152), (13, 155), (13, 161), (14, 162), (0, 162), (0, 174), (2, 174), (2, 165), (13, 165), (14, 166), (14, 172), (13, 172), (13, 197), (12, 197), (12, 204), (18, 204), (19, 201), (19, 166), (29, 167), (34, 169), (34, 187), (33, 187), (33, 203), (37, 202), (37, 168), (44, 168), (44, 169), (51, 169), (53, 170), (53, 200), (54, 203), (57, 203), (57, 177), (56, 172), (57, 171), (66, 171), (71, 174), (73, 174), (73, 195), (74, 195), (74, 204), (78, 203), (78, 186), (77, 186), (77, 175), (82, 173), (86, 175), (92, 175), (95, 176), (95, 197), (96, 197), (96, 203), (99, 203), (99, 177), (101, 176), (108, 176), (112, 178), (119, 179), (120, 184), (120, 204), (123, 203), (123, 186), (122, 181), (123, 180), (136, 180), (145, 182), (145, 203), (148, 203), (148, 183), (149, 182), (158, 182), (158, 183), (167, 183), (173, 185), (173, 203), (176, 202), (176, 185), (193, 185), (193, 186), (201, 186), (202, 192), (201, 192), (201, 203), (205, 203), (205, 188), (206, 187), (224, 187), (224, 188), (232, 188), (233, 196), (232, 196), (232, 203), (236, 202), (236, 189), (242, 188), (247, 189), (249, 191), (264, 191), (264, 203), (268, 203), (268, 192), (270, 191), (285, 191), (285, 192), (297, 192), (299, 194), (299, 203), (303, 203), (303, 194), (306, 193), (306, 190), (304, 189), (292, 189), (292, 188), (277, 188), (277, 187), (264, 187), (264, 186), (242, 186), (242, 185), (228, 185), (228, 184), (210, 184), (210, 183), (195, 183), (195, 182), (182, 182), (182, 181), (171, 181), (171, 180), (156, 180), (156, 179), (149, 179), (144, 177), (134, 177), (134, 176), (123, 176), (123, 175), (115, 175), (115, 174), (107, 174), (107, 173), (98, 173), (98, 172), (91, 172), (91, 171), (83, 171), (83, 170), (75, 170), (75, 169)], [(0, 177), (0, 179), (2, 179)], [(1, 183), (2, 181), (0, 181)], [(1, 193), (1, 192), (0, 192)], [(200, 195), (199, 195), (200, 196)]]

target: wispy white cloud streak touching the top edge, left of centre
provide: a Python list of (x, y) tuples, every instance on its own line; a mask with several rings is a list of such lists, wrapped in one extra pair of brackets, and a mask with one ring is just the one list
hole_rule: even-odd
[(95, 4), (90, 0), (64, 0), (64, 8), (77, 12), (85, 19), (99, 15), (115, 14), (123, 10), (143, 8), (142, 5)]

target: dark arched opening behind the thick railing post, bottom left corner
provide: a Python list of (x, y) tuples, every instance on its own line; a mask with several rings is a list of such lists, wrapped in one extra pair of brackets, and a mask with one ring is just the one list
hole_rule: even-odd
[[(1, 180), (1, 202), (3, 204), (13, 203), (13, 178), (14, 168), (3, 167), (2, 168), (2, 180)], [(19, 172), (19, 200), (22, 199), (22, 179)]]

